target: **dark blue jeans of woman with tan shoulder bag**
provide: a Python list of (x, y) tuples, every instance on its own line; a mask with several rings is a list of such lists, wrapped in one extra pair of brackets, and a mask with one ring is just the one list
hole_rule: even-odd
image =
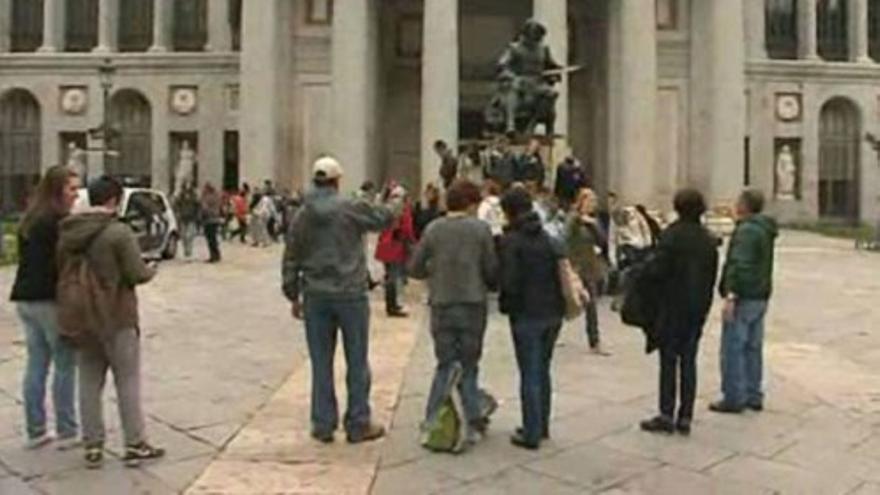
[(520, 373), (523, 433), (527, 442), (537, 445), (550, 431), (550, 367), (562, 321), (511, 318), (510, 325)]

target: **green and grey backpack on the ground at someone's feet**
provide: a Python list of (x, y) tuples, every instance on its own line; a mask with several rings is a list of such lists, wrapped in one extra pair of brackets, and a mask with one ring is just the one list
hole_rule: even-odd
[(434, 452), (459, 454), (467, 445), (467, 426), (458, 384), (461, 382), (461, 364), (455, 363), (446, 383), (445, 397), (440, 409), (422, 427), (422, 447)]

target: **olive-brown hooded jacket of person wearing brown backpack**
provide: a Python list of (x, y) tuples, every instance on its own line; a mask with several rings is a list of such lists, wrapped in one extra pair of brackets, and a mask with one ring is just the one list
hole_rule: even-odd
[(58, 263), (63, 267), (70, 257), (83, 252), (100, 282), (94, 301), (100, 324), (90, 333), (109, 337), (120, 330), (136, 328), (139, 321), (135, 287), (149, 282), (156, 272), (141, 259), (134, 233), (107, 210), (92, 209), (71, 215), (61, 222)]

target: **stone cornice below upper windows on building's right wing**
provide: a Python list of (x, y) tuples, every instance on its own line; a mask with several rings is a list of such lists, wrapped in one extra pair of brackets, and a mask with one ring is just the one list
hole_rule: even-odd
[(880, 64), (824, 60), (751, 60), (746, 63), (746, 75), (753, 79), (785, 82), (877, 84), (880, 82)]

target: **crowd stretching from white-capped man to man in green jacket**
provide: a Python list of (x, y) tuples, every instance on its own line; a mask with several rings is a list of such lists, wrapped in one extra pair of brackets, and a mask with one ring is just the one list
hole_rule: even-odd
[[(312, 357), (313, 437), (331, 442), (338, 428), (332, 362), (337, 332), (348, 360), (348, 440), (384, 435), (369, 414), (367, 293), (374, 277), (368, 268), (372, 249), (365, 251), (364, 242), (370, 233), (379, 235), (375, 253), (386, 267), (389, 316), (406, 315), (397, 304), (402, 279), (426, 281), (437, 365), (423, 429), (437, 421), (454, 384), (467, 445), (486, 433), (492, 407), (486, 407), (488, 394), (479, 385), (479, 363), (497, 292), (520, 372), (522, 427), (511, 437), (514, 445), (537, 449), (550, 435), (551, 362), (566, 320), (583, 314), (590, 350), (610, 355), (601, 343), (596, 306), (603, 295), (615, 298), (613, 308), (625, 323), (642, 328), (646, 349), (659, 351), (659, 414), (641, 428), (689, 434), (696, 356), (721, 245), (702, 223), (703, 195), (679, 191), (671, 205), (675, 219), (664, 228), (642, 205), (618, 204), (613, 193), (600, 201), (573, 157), (560, 166), (550, 193), (538, 176), (505, 185), (490, 175), (477, 185), (451, 170), (445, 143), (438, 141), (435, 149), (442, 189), (428, 185), (416, 205), (393, 182), (380, 194), (365, 184), (347, 198), (339, 193), (342, 165), (330, 157), (314, 165), (314, 187), (291, 224), (283, 263), (284, 293), (294, 317), (305, 320)], [(537, 149), (529, 152), (539, 155)], [(742, 193), (721, 270), (722, 399), (711, 404), (715, 412), (763, 408), (763, 318), (777, 235), (763, 207), (760, 192)]]

